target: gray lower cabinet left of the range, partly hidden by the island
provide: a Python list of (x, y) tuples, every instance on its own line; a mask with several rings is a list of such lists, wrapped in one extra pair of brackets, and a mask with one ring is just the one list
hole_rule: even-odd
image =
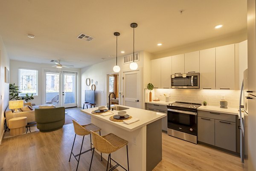
[[(167, 106), (161, 104), (148, 104), (146, 103), (146, 110), (151, 110), (159, 113), (167, 114)], [(167, 131), (167, 116), (162, 119), (162, 130)]]

